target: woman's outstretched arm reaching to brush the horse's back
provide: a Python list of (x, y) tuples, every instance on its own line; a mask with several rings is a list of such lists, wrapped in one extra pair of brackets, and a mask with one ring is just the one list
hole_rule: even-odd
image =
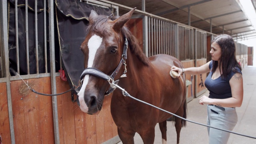
[(197, 75), (197, 74), (204, 74), (207, 72), (210, 72), (209, 64), (211, 61), (207, 62), (206, 64), (199, 66), (199, 67), (191, 67), (191, 68), (178, 68), (176, 66), (172, 66), (171, 70), (177, 71), (178, 72), (178, 77), (183, 73), (186, 74), (192, 74), (192, 75)]

